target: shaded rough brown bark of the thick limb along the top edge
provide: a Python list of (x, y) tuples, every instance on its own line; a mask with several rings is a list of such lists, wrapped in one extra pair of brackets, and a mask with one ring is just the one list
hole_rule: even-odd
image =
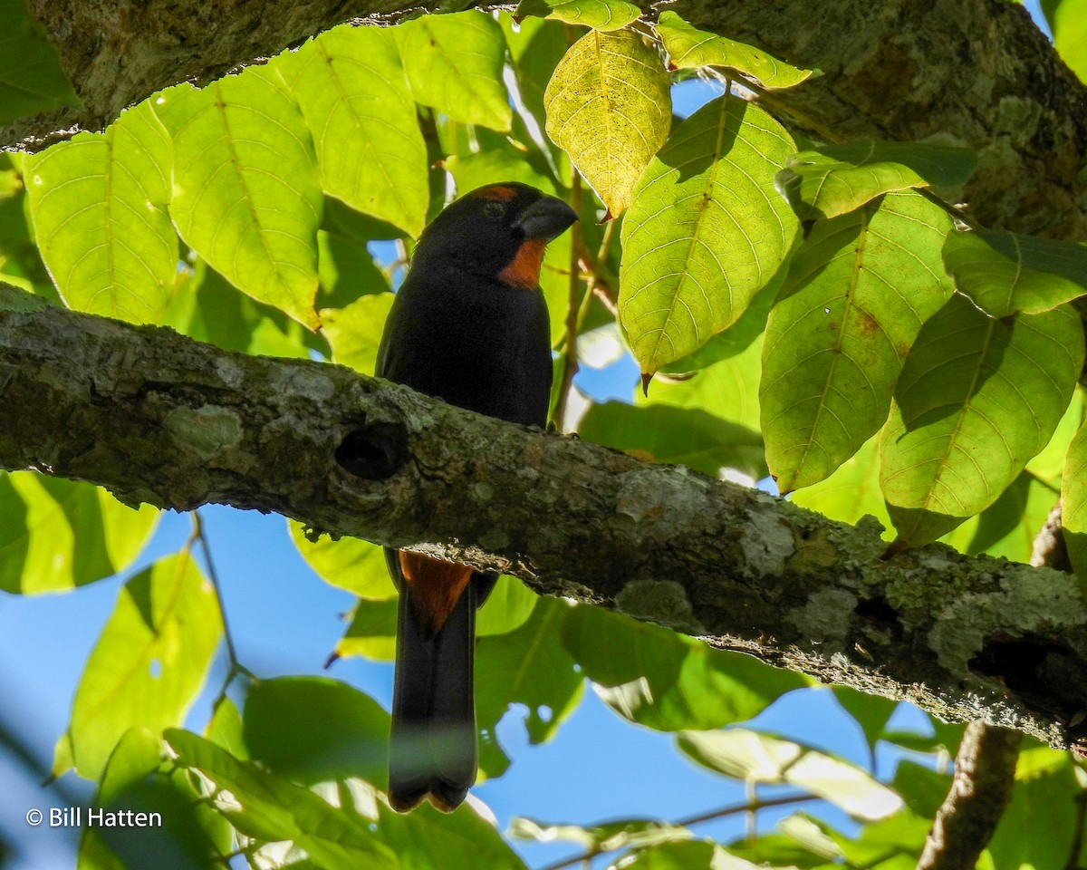
[[(207, 80), (346, 21), (389, 22), (438, 0), (32, 0), (86, 110), (0, 128), (0, 147), (37, 150), (101, 129), (126, 105)], [(651, 4), (642, 2), (650, 16)], [(937, 137), (977, 149), (963, 191), (990, 227), (1087, 238), (1087, 89), (1027, 12), (1007, 0), (740, 0), (670, 4), (691, 23), (750, 41), (820, 78), (775, 95), (795, 127), (829, 140)]]

